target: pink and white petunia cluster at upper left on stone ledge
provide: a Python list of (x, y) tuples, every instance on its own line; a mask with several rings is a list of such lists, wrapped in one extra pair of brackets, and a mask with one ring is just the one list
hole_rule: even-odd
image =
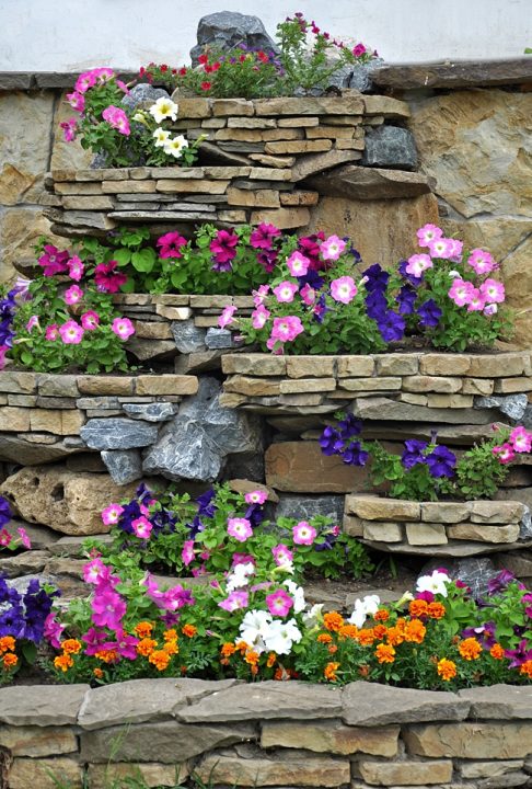
[(177, 104), (170, 98), (158, 99), (149, 111), (132, 112), (129, 88), (109, 68), (96, 68), (80, 75), (67, 102), (79, 113), (60, 124), (66, 141), (77, 136), (83, 148), (101, 153), (106, 167), (166, 163), (192, 164), (201, 139), (193, 145), (183, 135), (171, 136), (166, 121), (176, 121)]

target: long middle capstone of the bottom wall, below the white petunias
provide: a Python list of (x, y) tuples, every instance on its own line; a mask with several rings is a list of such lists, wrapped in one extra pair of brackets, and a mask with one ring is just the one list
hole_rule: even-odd
[(208, 696), (178, 710), (175, 717), (187, 723), (209, 723), (273, 718), (338, 718), (340, 712), (342, 694), (338, 688), (315, 685), (310, 693), (305, 683), (263, 682), (238, 685)]

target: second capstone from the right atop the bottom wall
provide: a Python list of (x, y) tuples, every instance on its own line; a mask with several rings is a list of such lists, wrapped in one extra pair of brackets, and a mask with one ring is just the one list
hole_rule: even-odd
[(349, 725), (461, 721), (470, 701), (455, 694), (357, 682), (343, 689), (342, 718)]

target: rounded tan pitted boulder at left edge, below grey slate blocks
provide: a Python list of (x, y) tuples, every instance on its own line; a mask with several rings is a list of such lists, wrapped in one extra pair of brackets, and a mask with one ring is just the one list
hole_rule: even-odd
[(135, 484), (119, 488), (105, 474), (74, 473), (62, 466), (28, 466), (8, 477), (0, 494), (31, 523), (67, 535), (91, 535), (105, 530), (102, 510), (135, 489)]

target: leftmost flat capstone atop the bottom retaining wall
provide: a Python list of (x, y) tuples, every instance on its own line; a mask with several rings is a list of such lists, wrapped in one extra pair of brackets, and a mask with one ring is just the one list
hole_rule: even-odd
[(76, 723), (89, 685), (14, 686), (0, 689), (0, 722), (11, 725)]

